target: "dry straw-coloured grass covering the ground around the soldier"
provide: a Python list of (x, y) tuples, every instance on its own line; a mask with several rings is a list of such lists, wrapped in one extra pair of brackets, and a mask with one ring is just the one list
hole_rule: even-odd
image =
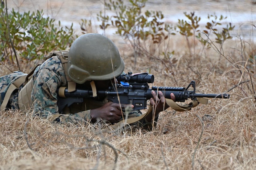
[[(145, 56), (133, 68), (132, 52), (119, 44), (125, 71), (150, 68), (156, 86), (186, 87), (195, 80), (198, 93), (224, 93), (239, 83), (241, 74), (233, 64), (242, 64), (241, 56), (232, 41), (229, 45), (236, 49), (226, 51), (233, 64), (213, 50), (191, 57), (180, 38), (170, 43), (177, 42), (173, 50), (180, 51), (174, 56), (178, 62), (167, 68), (172, 73)], [(1, 69), (2, 75), (9, 73)], [(244, 70), (245, 80), (248, 75)], [(1, 113), (0, 169), (255, 169), (255, 100), (250, 92), (255, 76), (251, 82), (231, 89), (230, 99), (210, 99), (189, 112), (167, 109), (154, 132), (115, 134), (91, 125), (56, 125), (30, 113)]]

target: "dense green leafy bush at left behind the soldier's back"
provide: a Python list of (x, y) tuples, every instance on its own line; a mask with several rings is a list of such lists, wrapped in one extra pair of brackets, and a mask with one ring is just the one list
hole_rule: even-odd
[(0, 13), (1, 62), (15, 63), (15, 52), (17, 66), (19, 61), (40, 60), (51, 51), (69, 48), (74, 41), (73, 24), (63, 28), (59, 21), (55, 26), (55, 20), (44, 18), (43, 11), (20, 14), (12, 9), (8, 14), (1, 3)]

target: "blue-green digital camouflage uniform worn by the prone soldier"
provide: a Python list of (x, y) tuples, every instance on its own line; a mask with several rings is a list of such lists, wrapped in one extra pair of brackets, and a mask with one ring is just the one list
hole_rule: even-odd
[[(20, 75), (23, 73), (17, 72), (16, 74)], [(10, 80), (6, 81), (5, 77), (1, 77), (0, 80), (2, 80), (0, 89), (1, 87), (8, 87), (8, 83), (6, 82), (10, 82)], [(15, 76), (13, 76), (11, 81), (13, 80), (15, 80)], [(67, 80), (58, 56), (51, 57), (38, 66), (33, 74), (32, 81), (34, 83), (31, 94), (33, 114), (44, 118), (49, 118), (52, 115), (57, 122), (90, 122), (90, 110), (99, 108), (108, 102), (107, 100), (97, 101), (91, 98), (84, 98), (83, 103), (74, 103), (69, 108), (66, 108), (65, 110), (68, 114), (63, 112), (59, 113), (56, 91), (58, 87), (67, 86)], [(13, 109), (18, 109), (17, 96), (18, 91), (13, 95), (13, 98), (9, 100), (10, 106), (12, 106)], [(1, 100), (3, 100), (3, 97), (4, 95), (1, 94)], [(129, 114), (128, 118), (140, 115), (142, 115), (140, 111), (133, 111)], [(155, 122), (156, 121), (157, 118), (155, 119)], [(142, 119), (133, 125), (152, 128), (152, 123), (147, 122), (146, 119)], [(154, 123), (154, 125), (156, 125), (156, 123)]]

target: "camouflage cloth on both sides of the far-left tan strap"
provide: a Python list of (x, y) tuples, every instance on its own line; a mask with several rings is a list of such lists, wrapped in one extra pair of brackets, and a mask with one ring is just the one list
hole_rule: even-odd
[[(24, 75), (27, 75), (27, 74), (22, 73), (20, 71), (15, 71), (11, 74), (0, 77), (0, 107), (2, 106), (4, 97), (10, 85), (19, 77)], [(18, 89), (13, 91), (7, 103), (7, 106), (6, 106), (7, 109), (19, 109), (18, 94), (19, 94), (19, 91), (22, 89), (22, 87), (23, 85), (21, 85)]]

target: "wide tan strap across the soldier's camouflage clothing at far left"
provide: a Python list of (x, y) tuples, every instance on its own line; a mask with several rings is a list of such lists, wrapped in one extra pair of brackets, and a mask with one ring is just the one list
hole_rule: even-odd
[(5, 110), (6, 106), (7, 106), (7, 103), (10, 99), (10, 96), (11, 94), (13, 93), (13, 91), (15, 89), (18, 89), (25, 81), (25, 78), (26, 78), (26, 74), (19, 77), (17, 80), (15, 80), (8, 88), (6, 94), (5, 94), (5, 97), (4, 97), (4, 100), (3, 100), (3, 103), (2, 103), (2, 106), (1, 106), (1, 112)]

